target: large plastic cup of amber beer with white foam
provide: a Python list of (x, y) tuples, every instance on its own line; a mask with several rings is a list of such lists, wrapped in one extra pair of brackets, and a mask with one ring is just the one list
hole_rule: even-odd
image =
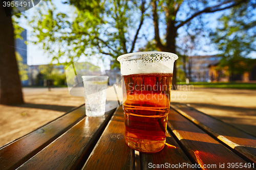
[(139, 152), (164, 148), (176, 54), (138, 52), (119, 56), (123, 76), (125, 142)]

